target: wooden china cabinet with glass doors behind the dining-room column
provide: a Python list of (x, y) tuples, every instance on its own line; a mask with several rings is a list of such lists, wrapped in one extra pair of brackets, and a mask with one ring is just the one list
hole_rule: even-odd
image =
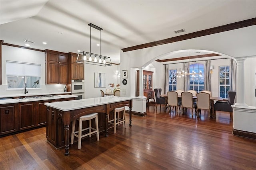
[[(143, 95), (149, 99), (153, 99), (155, 101), (154, 90), (152, 87), (153, 84), (153, 72), (143, 70)], [(137, 70), (137, 96), (140, 95), (140, 72)]]

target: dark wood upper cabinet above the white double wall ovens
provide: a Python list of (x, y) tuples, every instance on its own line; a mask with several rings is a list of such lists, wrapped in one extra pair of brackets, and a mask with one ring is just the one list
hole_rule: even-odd
[(70, 80), (84, 80), (84, 64), (76, 63), (78, 54), (68, 53)]

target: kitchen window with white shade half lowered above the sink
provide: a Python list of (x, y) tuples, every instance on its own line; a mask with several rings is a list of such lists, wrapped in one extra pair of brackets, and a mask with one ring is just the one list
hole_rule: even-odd
[(40, 88), (41, 65), (6, 61), (7, 88)]

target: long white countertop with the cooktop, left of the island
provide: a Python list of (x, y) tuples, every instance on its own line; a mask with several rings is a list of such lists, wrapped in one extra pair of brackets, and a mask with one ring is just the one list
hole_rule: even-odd
[(75, 98), (77, 96), (75, 95), (70, 95), (70, 94), (64, 94), (64, 95), (58, 95), (55, 97), (48, 97), (48, 98), (30, 98), (30, 99), (5, 99), (5, 100), (0, 100), (0, 104), (12, 104), (12, 103), (22, 103), (22, 102), (35, 102), (35, 101), (40, 101), (40, 100), (54, 100), (54, 99), (63, 99), (63, 98)]

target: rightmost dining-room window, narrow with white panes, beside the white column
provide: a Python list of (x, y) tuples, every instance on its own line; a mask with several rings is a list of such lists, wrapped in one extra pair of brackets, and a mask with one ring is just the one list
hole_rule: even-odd
[(229, 66), (220, 66), (219, 75), (220, 75), (220, 97), (227, 99), (228, 90), (230, 89)]

